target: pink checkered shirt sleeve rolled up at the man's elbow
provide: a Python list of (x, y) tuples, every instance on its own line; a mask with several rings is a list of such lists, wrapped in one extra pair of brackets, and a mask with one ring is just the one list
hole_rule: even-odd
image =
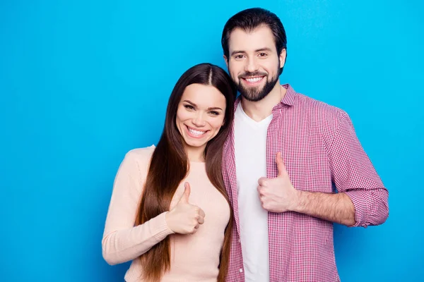
[(331, 176), (338, 192), (350, 197), (355, 207), (355, 224), (379, 225), (389, 216), (388, 192), (360, 145), (348, 115), (340, 112), (329, 150)]

